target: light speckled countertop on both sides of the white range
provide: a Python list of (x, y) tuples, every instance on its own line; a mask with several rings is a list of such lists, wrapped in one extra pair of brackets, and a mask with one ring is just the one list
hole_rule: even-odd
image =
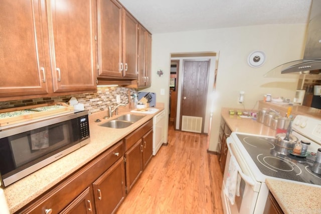
[[(272, 108), (274, 105), (269, 104), (269, 106)], [(232, 131), (266, 136), (276, 135), (275, 130), (258, 123), (256, 120), (241, 118), (237, 115), (229, 115), (229, 109), (230, 108), (222, 108), (221, 115)], [(318, 111), (304, 107), (299, 109), (301, 111), (299, 114), (304, 113), (304, 115), (307, 116), (314, 116), (315, 111)], [(296, 113), (295, 111), (293, 112)], [(309, 114), (309, 112), (313, 112), (313, 114)], [(321, 202), (319, 200), (321, 187), (272, 178), (266, 179), (265, 182), (284, 213), (321, 213)]]

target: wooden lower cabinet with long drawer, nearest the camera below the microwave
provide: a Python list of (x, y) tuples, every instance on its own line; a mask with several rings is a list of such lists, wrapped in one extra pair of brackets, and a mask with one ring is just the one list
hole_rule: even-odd
[[(16, 213), (112, 213), (125, 195), (123, 155), (121, 140)], [(94, 201), (100, 199), (92, 189), (98, 188), (101, 199), (107, 203), (103, 204), (103, 209), (108, 212), (102, 210), (99, 202), (95, 205)]]

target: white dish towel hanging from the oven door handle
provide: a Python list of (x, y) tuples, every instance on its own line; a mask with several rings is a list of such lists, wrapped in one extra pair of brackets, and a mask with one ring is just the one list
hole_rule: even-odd
[(239, 196), (239, 183), (241, 181), (241, 176), (238, 173), (238, 166), (234, 156), (231, 156), (228, 174), (225, 183), (224, 193), (231, 201), (231, 204), (234, 204), (235, 195)]

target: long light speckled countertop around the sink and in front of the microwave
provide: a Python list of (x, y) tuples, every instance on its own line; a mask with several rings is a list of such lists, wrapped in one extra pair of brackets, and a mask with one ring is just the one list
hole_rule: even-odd
[[(159, 111), (162, 111), (164, 109), (164, 104), (157, 103), (156, 108), (159, 109)], [(129, 113), (129, 111), (130, 110), (128, 107), (120, 107), (118, 116)], [(107, 120), (112, 120), (118, 116), (113, 116), (110, 119), (103, 119), (103, 117), (106, 115), (106, 111), (89, 115), (89, 144), (4, 188), (10, 213), (19, 210), (31, 200), (62, 181), (71, 173), (88, 163), (100, 153), (104, 152), (113, 144), (134, 131), (140, 125), (151, 119), (159, 111), (155, 112), (154, 114), (138, 114), (144, 115), (145, 117), (133, 123), (129, 127), (122, 129), (99, 126), (99, 124)], [(99, 118), (102, 122), (94, 122), (97, 118)]]

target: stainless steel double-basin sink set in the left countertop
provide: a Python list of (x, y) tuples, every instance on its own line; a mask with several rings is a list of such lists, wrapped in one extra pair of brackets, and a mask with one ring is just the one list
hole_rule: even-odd
[(100, 124), (100, 126), (104, 126), (108, 128), (117, 128), (117, 129), (126, 128), (143, 117), (144, 116), (134, 115), (134, 114), (124, 114), (119, 117), (116, 117), (113, 120), (109, 120), (105, 123), (102, 123)]

